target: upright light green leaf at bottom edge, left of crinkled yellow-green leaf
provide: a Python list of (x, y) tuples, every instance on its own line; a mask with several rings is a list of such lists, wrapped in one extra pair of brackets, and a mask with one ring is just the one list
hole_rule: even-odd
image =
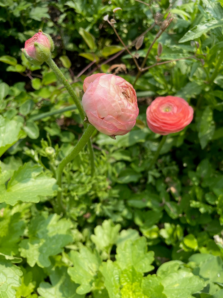
[(110, 298), (120, 298), (120, 275), (121, 269), (116, 262), (107, 260), (103, 262), (100, 271), (104, 277), (104, 285)]

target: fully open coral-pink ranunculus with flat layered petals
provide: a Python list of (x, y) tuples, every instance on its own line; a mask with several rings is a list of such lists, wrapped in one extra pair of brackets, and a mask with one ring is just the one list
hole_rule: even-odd
[(146, 121), (154, 133), (167, 135), (184, 129), (193, 119), (193, 108), (181, 97), (157, 97), (146, 110)]

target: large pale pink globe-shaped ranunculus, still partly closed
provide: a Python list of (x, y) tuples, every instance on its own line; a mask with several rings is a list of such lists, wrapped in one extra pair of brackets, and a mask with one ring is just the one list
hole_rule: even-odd
[(136, 123), (133, 86), (117, 75), (95, 74), (84, 80), (82, 105), (88, 121), (108, 136), (124, 135)]

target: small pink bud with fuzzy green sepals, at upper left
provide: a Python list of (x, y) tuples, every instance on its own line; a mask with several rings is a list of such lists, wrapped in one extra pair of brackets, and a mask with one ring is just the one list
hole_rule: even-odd
[(25, 42), (22, 49), (25, 57), (33, 64), (42, 64), (51, 57), (51, 51), (54, 49), (54, 43), (50, 35), (39, 30)]

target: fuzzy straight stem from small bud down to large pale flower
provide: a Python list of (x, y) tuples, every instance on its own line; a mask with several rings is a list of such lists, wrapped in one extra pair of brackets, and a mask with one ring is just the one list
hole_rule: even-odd
[(63, 83), (64, 87), (67, 89), (68, 93), (72, 97), (74, 103), (77, 106), (77, 109), (81, 115), (81, 119), (84, 120), (85, 118), (85, 112), (81, 106), (81, 103), (79, 101), (79, 98), (77, 97), (77, 94), (75, 93), (74, 89), (71, 87), (71, 85), (68, 83), (68, 80), (64, 77), (62, 72), (59, 70), (58, 66), (55, 64), (53, 59), (49, 58), (46, 63), (50, 66), (50, 68), (53, 70), (57, 78), (61, 83)]

